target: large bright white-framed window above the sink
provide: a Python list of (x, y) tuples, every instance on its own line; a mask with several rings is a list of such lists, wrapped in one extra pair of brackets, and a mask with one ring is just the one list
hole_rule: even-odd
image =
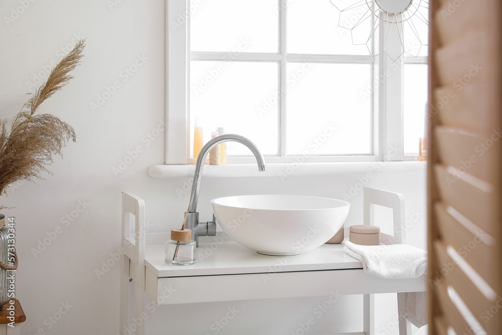
[[(416, 64), (426, 64), (423, 55), (396, 64), (372, 57), (337, 26), (329, 0), (167, 4), (167, 164), (192, 163), (195, 116), (204, 142), (225, 127), (253, 140), (268, 162), (415, 158), (416, 119), (424, 114), (417, 117), (421, 95), (410, 92), (427, 94), (420, 76), (427, 65)], [(370, 47), (379, 43), (376, 36)], [(397, 70), (383, 78), (391, 67)], [(228, 146), (228, 163), (250, 156), (240, 144)]]

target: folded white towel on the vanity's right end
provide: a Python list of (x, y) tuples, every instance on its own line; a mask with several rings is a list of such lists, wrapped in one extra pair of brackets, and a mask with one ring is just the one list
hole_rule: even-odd
[(343, 250), (362, 263), (364, 272), (381, 278), (418, 278), (427, 269), (427, 252), (406, 244), (360, 246), (345, 241)]

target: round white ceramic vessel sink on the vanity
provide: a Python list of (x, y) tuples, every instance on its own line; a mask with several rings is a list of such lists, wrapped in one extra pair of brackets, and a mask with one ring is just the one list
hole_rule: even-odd
[(305, 195), (239, 195), (211, 200), (216, 221), (235, 242), (260, 254), (298, 255), (341, 228), (350, 203)]

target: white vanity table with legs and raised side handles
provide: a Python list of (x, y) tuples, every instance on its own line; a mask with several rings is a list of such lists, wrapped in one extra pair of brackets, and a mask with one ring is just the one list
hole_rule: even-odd
[[(394, 208), (395, 222), (402, 221), (402, 195), (367, 190), (364, 224), (370, 222), (370, 202)], [(157, 304), (363, 294), (364, 331), (353, 334), (366, 335), (374, 335), (375, 293), (398, 293), (399, 331), (411, 335), (411, 325), (404, 319), (407, 292), (425, 291), (423, 276), (383, 279), (366, 274), (362, 264), (343, 251), (343, 244), (325, 244), (296, 256), (267, 256), (236, 242), (223, 242), (222, 237), (206, 237), (196, 250), (195, 264), (176, 266), (164, 262), (168, 235), (150, 235), (149, 244), (145, 235), (144, 201), (122, 193), (120, 334), (134, 326), (137, 335), (145, 335), (145, 322), (132, 324), (129, 318), (130, 279), (135, 285), (135, 320), (146, 319), (145, 293)], [(381, 241), (389, 242), (388, 237), (381, 234)], [(405, 233), (393, 239), (406, 243)]]

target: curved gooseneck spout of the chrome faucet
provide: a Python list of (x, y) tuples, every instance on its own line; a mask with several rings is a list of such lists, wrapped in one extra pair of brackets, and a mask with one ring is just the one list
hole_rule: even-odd
[(204, 161), (206, 160), (207, 154), (214, 146), (223, 142), (230, 142), (230, 141), (238, 142), (248, 147), (249, 150), (253, 152), (253, 155), (255, 155), (255, 158), (258, 162), (258, 170), (265, 171), (265, 159), (263, 158), (260, 149), (258, 149), (258, 147), (256, 146), (255, 143), (253, 143), (253, 141), (237, 134), (224, 134), (216, 136), (215, 138), (207, 142), (205, 146), (202, 147), (199, 153), (199, 157), (197, 158), (197, 164), (195, 165), (195, 173), (193, 175), (192, 193), (194, 193), (195, 181), (199, 180), (199, 182), (197, 184), (197, 188), (195, 189), (192, 204), (190, 205), (190, 208), (188, 210), (190, 213), (195, 213), (197, 211), (197, 200), (199, 199), (200, 179), (202, 178), (202, 167), (204, 166)]

